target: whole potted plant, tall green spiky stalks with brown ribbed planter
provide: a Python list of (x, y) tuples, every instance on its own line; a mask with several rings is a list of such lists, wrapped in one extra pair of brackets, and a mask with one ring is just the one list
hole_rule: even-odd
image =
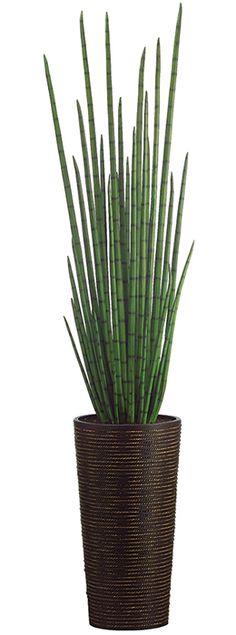
[[(173, 175), (169, 174), (182, 7), (172, 58), (164, 148), (158, 183), (160, 42), (157, 42), (152, 147), (145, 49), (138, 79), (132, 157), (124, 165), (122, 102), (118, 141), (113, 110), (109, 21), (106, 80), (110, 166), (97, 145), (83, 14), (80, 19), (90, 153), (77, 112), (87, 202), (73, 157), (82, 239), (65, 159), (49, 67), (46, 78), (69, 212), (74, 269), (68, 259), (80, 352), (66, 328), (94, 408), (74, 420), (89, 619), (109, 629), (168, 623), (181, 421), (160, 415), (179, 300), (193, 244), (177, 285), (188, 157), (172, 240)], [(88, 209), (88, 213), (87, 213)]]

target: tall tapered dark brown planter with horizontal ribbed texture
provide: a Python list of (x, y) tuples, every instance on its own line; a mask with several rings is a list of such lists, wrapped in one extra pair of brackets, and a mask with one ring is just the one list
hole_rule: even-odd
[(181, 421), (74, 420), (89, 621), (168, 623)]

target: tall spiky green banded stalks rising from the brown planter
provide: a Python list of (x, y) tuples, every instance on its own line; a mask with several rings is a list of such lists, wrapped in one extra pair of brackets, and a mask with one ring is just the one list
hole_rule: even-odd
[(136, 126), (133, 129), (130, 169), (129, 158), (124, 166), (121, 99), (118, 106), (118, 144), (115, 138), (110, 33), (106, 14), (106, 79), (110, 151), (110, 173), (107, 181), (102, 136), (99, 152), (97, 147), (87, 46), (83, 14), (81, 14), (80, 32), (91, 157), (89, 157), (79, 102), (77, 102), (77, 111), (89, 217), (86, 213), (80, 170), (74, 157), (73, 163), (78, 189), (83, 248), (77, 226), (52, 81), (48, 63), (44, 57), (72, 233), (76, 278), (69, 259), (68, 268), (72, 288), (72, 309), (83, 362), (66, 319), (65, 323), (92, 404), (101, 421), (153, 423), (157, 420), (166, 387), (177, 309), (193, 251), (194, 243), (177, 286), (187, 156), (183, 168), (173, 248), (171, 241), (174, 204), (172, 174), (169, 200), (167, 197), (181, 17), (182, 6), (180, 5), (174, 39), (158, 196), (159, 39), (156, 49), (152, 165), (150, 164), (148, 132), (148, 93), (145, 92), (144, 96), (144, 49), (139, 70), (137, 117)]

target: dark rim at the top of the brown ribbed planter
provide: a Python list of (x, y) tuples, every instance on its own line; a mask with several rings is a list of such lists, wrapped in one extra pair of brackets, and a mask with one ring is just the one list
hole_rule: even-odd
[(75, 417), (73, 419), (75, 426), (85, 426), (90, 428), (106, 429), (112, 428), (112, 430), (137, 430), (137, 429), (146, 429), (146, 428), (156, 428), (160, 425), (172, 426), (176, 423), (181, 424), (180, 417), (175, 417), (173, 415), (158, 415), (156, 423), (104, 423), (99, 421), (96, 414), (90, 415), (82, 415), (79, 417)]

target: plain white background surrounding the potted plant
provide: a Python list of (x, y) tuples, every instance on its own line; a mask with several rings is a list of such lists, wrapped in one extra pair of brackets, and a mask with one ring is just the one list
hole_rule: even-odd
[[(9, 0), (1, 12), (3, 635), (92, 632), (72, 427), (91, 407), (62, 320), (72, 323), (70, 233), (42, 60), (46, 52), (72, 175), (75, 99), (85, 106), (81, 9), (105, 134), (109, 11), (130, 152), (139, 58), (146, 45), (151, 99), (158, 35), (163, 130), (178, 3)], [(235, 632), (235, 56), (235, 3), (185, 0), (171, 167), (177, 189), (189, 150), (182, 262), (192, 238), (196, 246), (162, 408), (183, 420), (169, 635)]]

